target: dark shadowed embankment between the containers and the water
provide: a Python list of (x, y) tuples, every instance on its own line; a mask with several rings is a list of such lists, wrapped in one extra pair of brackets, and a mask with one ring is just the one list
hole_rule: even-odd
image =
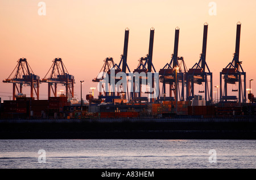
[(0, 120), (0, 139), (256, 140), (255, 120)]

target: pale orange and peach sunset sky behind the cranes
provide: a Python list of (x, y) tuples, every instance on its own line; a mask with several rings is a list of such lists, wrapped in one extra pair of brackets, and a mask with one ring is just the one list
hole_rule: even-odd
[[(27, 58), (33, 72), (43, 78), (52, 61), (59, 57), (75, 77), (76, 98), (80, 99), (80, 81), (85, 81), (85, 99), (92, 91), (90, 87), (97, 87), (92, 79), (100, 72), (105, 58), (113, 57), (119, 63), (126, 28), (130, 69), (137, 68), (139, 58), (148, 53), (151, 27), (155, 28), (152, 62), (156, 71), (171, 61), (176, 27), (180, 28), (178, 56), (184, 57), (188, 69), (192, 68), (202, 51), (205, 22), (207, 64), (213, 73), (213, 86), (218, 86), (222, 68), (233, 60), (238, 21), (242, 24), (240, 61), (247, 88), (249, 79), (255, 78), (251, 81), (254, 93), (255, 9), (255, 0), (0, 0), (0, 97), (3, 101), (12, 95), (12, 84), (2, 80), (13, 72), (19, 58)], [(58, 86), (58, 90), (62, 89), (64, 86)], [(30, 97), (29, 87), (23, 91)], [(45, 83), (40, 85), (40, 99), (47, 99)]]

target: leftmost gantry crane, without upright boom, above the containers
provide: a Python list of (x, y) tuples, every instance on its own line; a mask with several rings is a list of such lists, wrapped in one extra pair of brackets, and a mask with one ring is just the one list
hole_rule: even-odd
[[(39, 99), (39, 79), (40, 77), (34, 74), (26, 58), (20, 58), (13, 72), (3, 82), (13, 83), (13, 100), (15, 100), (15, 90), (22, 94), (23, 85), (30, 86), (31, 98), (34, 97), (33, 93), (35, 91), (36, 98)], [(19, 84), (19, 87), (17, 84)]]

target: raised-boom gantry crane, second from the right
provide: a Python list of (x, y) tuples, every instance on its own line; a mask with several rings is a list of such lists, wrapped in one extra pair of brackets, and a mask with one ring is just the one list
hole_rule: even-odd
[[(199, 90), (199, 93), (205, 94), (205, 102), (208, 104), (212, 103), (212, 72), (206, 62), (207, 52), (207, 34), (208, 34), (208, 23), (204, 23), (204, 34), (203, 34), (203, 48), (198, 63), (193, 65), (187, 72), (187, 101), (191, 101), (195, 95), (195, 83), (197, 85), (204, 84), (204, 90)], [(209, 78), (208, 78), (209, 77)], [(208, 81), (210, 85), (208, 85)]]

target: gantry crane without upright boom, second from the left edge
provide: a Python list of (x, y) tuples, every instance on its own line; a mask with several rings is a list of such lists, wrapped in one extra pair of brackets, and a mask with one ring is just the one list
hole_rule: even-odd
[[(67, 68), (63, 64), (61, 58), (55, 58), (51, 68), (48, 70), (46, 76), (40, 79), (40, 83), (48, 83), (48, 98), (51, 97), (51, 90), (53, 96), (57, 97), (57, 84), (60, 83), (65, 86), (65, 96), (67, 98), (74, 97), (74, 76), (68, 73)], [(53, 87), (54, 86), (54, 87)]]

